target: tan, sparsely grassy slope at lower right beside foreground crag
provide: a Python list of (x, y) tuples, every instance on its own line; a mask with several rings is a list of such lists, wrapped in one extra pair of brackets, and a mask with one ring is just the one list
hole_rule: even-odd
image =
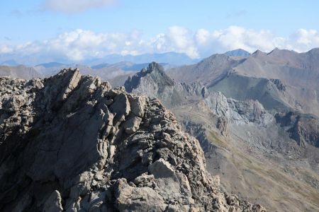
[(264, 157), (245, 141), (226, 139), (212, 131), (208, 138), (219, 147), (213, 155), (219, 155), (221, 160), (216, 163), (216, 157), (208, 157), (208, 171), (220, 175), (228, 191), (258, 201), (269, 211), (319, 211), (319, 189), (305, 182), (306, 177), (319, 180), (315, 172), (291, 164), (289, 170), (296, 173), (293, 176), (286, 167)]

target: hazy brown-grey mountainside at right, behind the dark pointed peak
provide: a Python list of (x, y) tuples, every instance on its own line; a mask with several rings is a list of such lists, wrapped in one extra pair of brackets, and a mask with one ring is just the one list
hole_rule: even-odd
[(319, 48), (297, 53), (274, 49), (249, 57), (213, 54), (198, 64), (167, 71), (177, 82), (201, 82), (236, 100), (258, 100), (267, 110), (297, 110), (319, 117)]

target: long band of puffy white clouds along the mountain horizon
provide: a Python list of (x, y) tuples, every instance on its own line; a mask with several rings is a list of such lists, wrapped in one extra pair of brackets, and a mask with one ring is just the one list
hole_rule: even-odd
[(269, 30), (250, 30), (238, 26), (223, 30), (199, 29), (196, 32), (172, 26), (165, 33), (145, 37), (136, 30), (130, 33), (94, 33), (78, 29), (50, 40), (21, 45), (0, 44), (0, 54), (58, 55), (72, 61), (82, 61), (107, 54), (179, 52), (196, 59), (238, 48), (249, 52), (257, 49), (270, 52), (275, 47), (306, 52), (319, 47), (319, 33), (316, 30), (299, 29), (289, 37), (280, 37)]

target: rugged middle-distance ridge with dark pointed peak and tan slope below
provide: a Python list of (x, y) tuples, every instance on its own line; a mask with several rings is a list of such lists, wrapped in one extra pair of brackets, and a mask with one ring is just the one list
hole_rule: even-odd
[[(227, 56), (217, 57), (228, 60)], [(205, 67), (205, 73), (219, 74)], [(186, 71), (185, 78), (193, 74), (187, 69), (180, 71)], [(211, 89), (205, 80), (194, 78), (193, 83), (179, 83), (167, 73), (152, 63), (128, 78), (125, 89), (159, 98), (169, 107), (183, 128), (200, 141), (208, 171), (223, 176), (223, 187), (260, 201), (271, 211), (319, 210), (318, 117), (289, 105), (281, 107), (278, 95), (257, 92), (279, 93), (285, 88), (281, 81), (263, 78), (258, 79), (262, 83), (244, 81), (234, 87), (231, 82), (248, 77), (228, 73), (219, 79), (225, 83), (223, 88), (247, 92), (246, 98), (236, 100), (226, 97), (225, 90), (221, 93)], [(232, 77), (234, 81), (229, 81)]]

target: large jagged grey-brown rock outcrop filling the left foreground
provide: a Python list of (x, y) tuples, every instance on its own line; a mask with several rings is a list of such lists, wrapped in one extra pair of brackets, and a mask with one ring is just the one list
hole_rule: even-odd
[(78, 69), (0, 86), (0, 211), (265, 211), (220, 191), (154, 98)]

